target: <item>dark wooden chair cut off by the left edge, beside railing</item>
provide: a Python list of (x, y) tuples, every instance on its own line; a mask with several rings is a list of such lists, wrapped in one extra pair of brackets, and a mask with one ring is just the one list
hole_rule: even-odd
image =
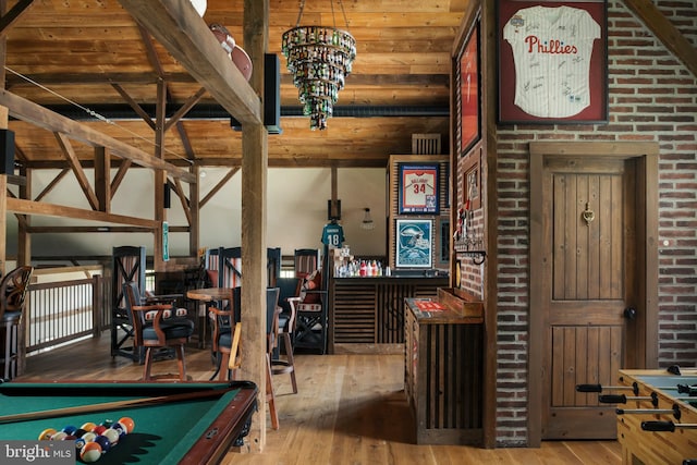
[(0, 362), (4, 365), (4, 379), (17, 376), (26, 290), (33, 271), (32, 267), (19, 267), (0, 281), (0, 321), (3, 330), (0, 341), (4, 342)]

